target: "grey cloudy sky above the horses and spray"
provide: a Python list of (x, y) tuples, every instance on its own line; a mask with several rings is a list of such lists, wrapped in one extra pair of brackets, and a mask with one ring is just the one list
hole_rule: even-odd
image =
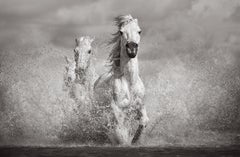
[(240, 23), (238, 0), (0, 0), (0, 47), (46, 41), (71, 47), (75, 36), (112, 33), (113, 17), (129, 13), (145, 32), (169, 18), (188, 22), (190, 31), (193, 23), (210, 31)]

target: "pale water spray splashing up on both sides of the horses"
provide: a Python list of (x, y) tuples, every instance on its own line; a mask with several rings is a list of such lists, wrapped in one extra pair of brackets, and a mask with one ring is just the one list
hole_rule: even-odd
[[(148, 45), (149, 51), (163, 55), (139, 61), (150, 116), (143, 145), (239, 141), (239, 64), (231, 45), (209, 48), (203, 41), (185, 48)], [(109, 143), (105, 129), (111, 127), (105, 126), (111, 114), (77, 105), (62, 91), (62, 57), (71, 52), (47, 45), (2, 54), (1, 144)]]

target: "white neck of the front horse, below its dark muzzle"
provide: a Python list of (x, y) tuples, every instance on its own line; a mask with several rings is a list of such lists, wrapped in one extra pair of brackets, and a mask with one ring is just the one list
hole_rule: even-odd
[(138, 59), (137, 56), (135, 58), (129, 58), (126, 56), (126, 50), (121, 49), (120, 56), (120, 72), (126, 77), (130, 82), (135, 82), (139, 77), (138, 70)]

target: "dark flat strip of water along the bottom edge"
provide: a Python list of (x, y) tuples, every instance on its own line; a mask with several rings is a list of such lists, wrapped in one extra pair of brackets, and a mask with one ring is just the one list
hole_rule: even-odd
[(123, 157), (123, 156), (240, 156), (240, 146), (229, 147), (1, 147), (1, 157)]

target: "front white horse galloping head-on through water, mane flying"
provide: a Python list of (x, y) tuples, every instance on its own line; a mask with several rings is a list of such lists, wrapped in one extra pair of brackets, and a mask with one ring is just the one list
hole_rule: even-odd
[[(118, 26), (110, 44), (113, 49), (109, 55), (111, 70), (99, 77), (94, 84), (95, 99), (102, 105), (109, 105), (114, 113), (115, 143), (135, 143), (142, 128), (146, 127), (149, 118), (143, 103), (145, 91), (139, 76), (137, 53), (140, 43), (141, 29), (138, 20), (131, 15), (115, 18)], [(130, 138), (126, 126), (127, 110), (134, 108), (139, 115), (139, 128), (133, 139)]]

